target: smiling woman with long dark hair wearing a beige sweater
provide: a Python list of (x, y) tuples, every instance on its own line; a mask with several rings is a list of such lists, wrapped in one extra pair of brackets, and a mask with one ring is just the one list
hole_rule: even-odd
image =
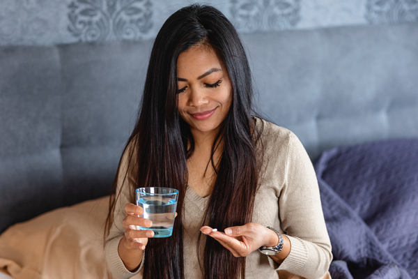
[[(169, 17), (115, 181), (106, 256), (116, 276), (324, 276), (332, 254), (314, 169), (293, 133), (251, 117), (252, 97), (222, 13), (192, 5)], [(134, 205), (134, 189), (149, 186), (180, 192), (171, 237), (135, 229), (151, 225)]]

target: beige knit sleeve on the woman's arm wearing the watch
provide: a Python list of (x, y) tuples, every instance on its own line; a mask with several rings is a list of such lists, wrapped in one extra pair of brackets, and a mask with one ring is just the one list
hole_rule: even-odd
[(284, 185), (279, 196), (279, 218), (291, 241), (291, 252), (280, 265), (269, 257), (274, 269), (304, 278), (321, 278), (332, 261), (318, 181), (314, 167), (300, 140), (291, 133)]

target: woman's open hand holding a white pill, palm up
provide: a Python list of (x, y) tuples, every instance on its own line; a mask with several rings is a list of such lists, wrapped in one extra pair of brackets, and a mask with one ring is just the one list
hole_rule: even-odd
[(216, 239), (235, 257), (246, 257), (261, 246), (276, 246), (279, 243), (275, 232), (258, 223), (228, 227), (224, 232), (213, 232), (211, 227), (203, 226), (201, 232)]

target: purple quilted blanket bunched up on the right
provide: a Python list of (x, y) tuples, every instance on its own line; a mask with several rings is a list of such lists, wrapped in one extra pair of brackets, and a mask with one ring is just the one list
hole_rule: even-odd
[(314, 167), (332, 278), (418, 278), (418, 139), (330, 149)]

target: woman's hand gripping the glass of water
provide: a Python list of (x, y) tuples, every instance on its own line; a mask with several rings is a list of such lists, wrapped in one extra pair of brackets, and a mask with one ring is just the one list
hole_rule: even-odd
[(148, 238), (153, 237), (154, 232), (151, 230), (137, 229), (136, 226), (151, 227), (153, 223), (148, 219), (138, 217), (144, 213), (144, 209), (141, 206), (126, 204), (125, 212), (126, 217), (122, 222), (123, 230), (125, 231), (125, 248), (128, 250), (145, 250)]

